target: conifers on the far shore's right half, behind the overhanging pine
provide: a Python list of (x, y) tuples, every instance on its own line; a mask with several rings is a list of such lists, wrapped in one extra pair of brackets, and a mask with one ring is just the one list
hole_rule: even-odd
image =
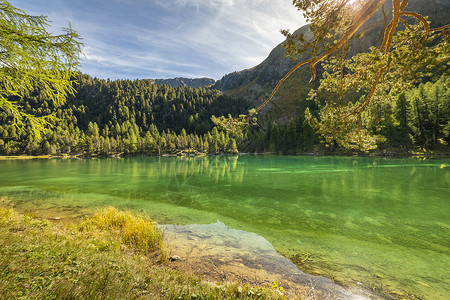
[[(397, 96), (394, 102), (371, 107), (370, 134), (377, 136), (374, 153), (447, 152), (450, 150), (449, 79), (420, 84)], [(312, 102), (312, 101), (311, 101)], [(326, 142), (310, 126), (307, 115), (316, 115), (317, 107), (288, 123), (267, 125), (267, 130), (250, 130), (248, 151), (283, 154), (348, 153), (335, 142)], [(351, 153), (351, 152), (350, 152)]]

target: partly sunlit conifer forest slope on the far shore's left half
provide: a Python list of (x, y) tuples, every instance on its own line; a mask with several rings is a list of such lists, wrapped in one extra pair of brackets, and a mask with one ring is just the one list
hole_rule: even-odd
[(242, 137), (225, 133), (207, 134), (213, 130), (211, 115), (224, 111), (237, 115), (248, 106), (219, 91), (81, 74), (76, 79), (77, 93), (63, 106), (49, 105), (40, 93), (21, 100), (27, 113), (58, 118), (41, 136), (31, 131), (19, 134), (13, 120), (0, 112), (0, 154), (236, 153), (242, 142)]

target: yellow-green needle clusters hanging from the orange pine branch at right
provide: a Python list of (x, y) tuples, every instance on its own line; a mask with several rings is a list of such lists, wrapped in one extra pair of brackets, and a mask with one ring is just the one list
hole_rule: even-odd
[[(318, 132), (327, 142), (334, 140), (345, 148), (375, 149), (380, 136), (368, 126), (372, 119), (379, 119), (373, 115), (378, 108), (389, 106), (399, 93), (413, 88), (422, 78), (445, 70), (450, 40), (444, 38), (436, 44), (437, 38), (428, 36), (423, 24), (407, 26), (393, 37), (388, 53), (372, 47), (370, 52), (349, 59), (328, 59), (320, 86), (311, 93), (318, 103), (326, 97), (326, 105), (320, 106), (315, 120)], [(355, 102), (354, 95), (367, 96)]]

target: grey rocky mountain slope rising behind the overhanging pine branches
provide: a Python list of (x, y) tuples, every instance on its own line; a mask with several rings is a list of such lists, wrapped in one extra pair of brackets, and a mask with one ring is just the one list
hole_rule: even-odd
[[(450, 0), (410, 0), (407, 6), (408, 11), (418, 12), (424, 16), (429, 16), (431, 26), (433, 28), (440, 27), (448, 23), (450, 20)], [(385, 11), (388, 18), (392, 14), (392, 3), (386, 1)], [(350, 54), (354, 55), (359, 52), (367, 51), (370, 46), (376, 45), (381, 37), (384, 28), (384, 17), (382, 11), (375, 13), (359, 33), (361, 38), (352, 42)], [(296, 33), (310, 34), (309, 26), (305, 25), (298, 29)], [(254, 103), (255, 107), (261, 103), (262, 99), (266, 99), (268, 94), (273, 90), (292, 67), (299, 61), (306, 60), (308, 57), (300, 57), (297, 61), (286, 58), (285, 50), (282, 43), (276, 46), (269, 56), (259, 65), (243, 70), (227, 74), (218, 80), (213, 88), (219, 89), (226, 94), (235, 97), (242, 97)], [(320, 77), (320, 66), (317, 68)], [(308, 66), (303, 66), (295, 71), (280, 87), (272, 101), (267, 105), (263, 112), (270, 112), (271, 119), (280, 117), (289, 120), (296, 113), (302, 113), (304, 108), (312, 103), (308, 103), (305, 99), (309, 90), (316, 87), (319, 83), (318, 79), (309, 82), (311, 74)]]

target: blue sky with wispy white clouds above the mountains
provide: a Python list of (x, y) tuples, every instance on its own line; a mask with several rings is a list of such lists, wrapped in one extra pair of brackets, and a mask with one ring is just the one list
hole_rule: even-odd
[(69, 22), (83, 38), (81, 71), (98, 78), (211, 77), (254, 67), (305, 24), (291, 0), (9, 0)]

